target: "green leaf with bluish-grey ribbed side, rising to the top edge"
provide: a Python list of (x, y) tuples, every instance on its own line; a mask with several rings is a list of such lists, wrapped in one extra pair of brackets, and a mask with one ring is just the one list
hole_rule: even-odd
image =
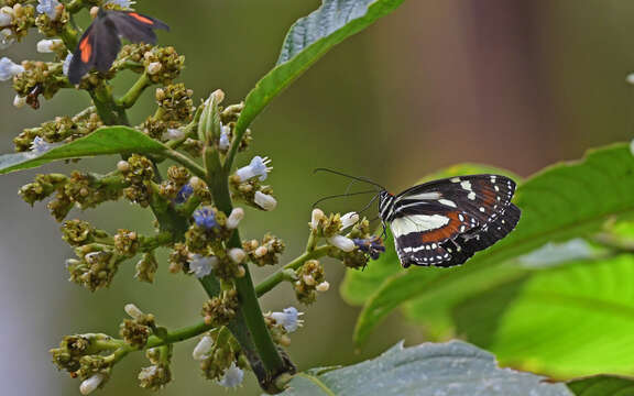
[(286, 34), (275, 68), (247, 96), (236, 125), (237, 134), (330, 48), (389, 14), (403, 1), (324, 0), (319, 9), (297, 20)]

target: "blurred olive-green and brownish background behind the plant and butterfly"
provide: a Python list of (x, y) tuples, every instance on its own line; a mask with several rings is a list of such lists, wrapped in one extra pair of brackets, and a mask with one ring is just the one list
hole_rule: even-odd
[[(317, 0), (139, 0), (138, 9), (172, 28), (161, 43), (187, 57), (182, 81), (197, 98), (221, 88), (240, 101), (273, 65), (284, 34)], [(33, 33), (0, 56), (36, 54)], [(428, 0), (406, 1), (396, 12), (335, 48), (286, 90), (253, 124), (251, 154), (269, 155), (270, 180), (280, 200), (273, 213), (248, 211), (243, 234), (273, 231), (298, 254), (307, 237), (311, 204), (341, 193), (346, 180), (313, 176), (318, 166), (372, 177), (394, 190), (460, 162), (480, 162), (529, 175), (592, 146), (633, 134), (634, 3), (627, 0)], [(119, 81), (124, 89), (132, 76)], [(152, 95), (132, 112), (140, 122)], [(73, 114), (87, 96), (62, 92), (39, 111), (15, 110), (9, 84), (0, 85), (0, 151), (12, 151), (21, 129)], [(241, 156), (239, 164), (249, 156)], [(117, 158), (84, 161), (107, 170)], [(68, 172), (64, 165), (46, 170)], [(167, 327), (199, 319), (205, 295), (193, 278), (165, 265), (154, 285), (132, 278), (123, 265), (113, 286), (90, 294), (66, 280), (72, 251), (44, 205), (30, 208), (17, 191), (36, 172), (1, 178), (0, 188), (0, 384), (7, 395), (73, 395), (78, 382), (56, 372), (47, 350), (67, 333), (116, 334), (124, 304), (134, 301)], [(358, 202), (331, 202), (348, 210)], [(125, 202), (73, 212), (100, 228), (147, 230), (150, 217)], [(393, 315), (362, 351), (351, 344), (358, 308), (338, 295), (343, 272), (326, 263), (334, 286), (303, 308), (306, 327), (294, 334), (291, 355), (300, 370), (348, 364), (378, 354), (397, 340), (423, 341)], [(267, 270), (270, 271), (270, 270)], [(371, 270), (370, 270), (371, 271)], [(261, 278), (266, 271), (256, 271)], [(263, 299), (264, 309), (295, 304), (284, 285)], [(163, 395), (226, 392), (205, 381), (190, 359), (195, 341), (176, 345), (175, 382)], [(101, 395), (142, 395), (135, 386), (141, 354), (117, 367)], [(259, 394), (254, 381), (230, 392)]]

